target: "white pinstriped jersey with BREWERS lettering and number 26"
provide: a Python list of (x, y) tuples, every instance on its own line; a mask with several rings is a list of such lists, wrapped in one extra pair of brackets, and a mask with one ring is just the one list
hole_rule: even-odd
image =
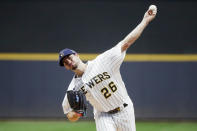
[[(126, 51), (121, 52), (121, 43), (117, 44), (115, 47), (97, 56), (94, 60), (88, 61), (86, 70), (82, 77), (73, 77), (68, 87), (68, 90), (81, 89), (85, 93), (86, 99), (94, 107), (96, 124), (105, 123), (103, 122), (104, 120), (102, 120), (104, 117), (101, 116), (107, 115), (103, 115), (102, 113), (106, 113), (120, 107), (124, 103), (129, 104), (128, 108), (132, 108), (133, 106), (119, 70), (120, 65), (125, 58), (125, 54)], [(71, 111), (67, 95), (65, 96), (62, 105), (65, 114)], [(128, 114), (129, 113), (122, 116), (126, 117)], [(131, 118), (127, 119), (133, 118), (134, 113), (132, 113)], [(134, 124), (129, 123), (129, 125)], [(103, 124), (97, 124), (97, 130), (99, 129), (103, 130)]]

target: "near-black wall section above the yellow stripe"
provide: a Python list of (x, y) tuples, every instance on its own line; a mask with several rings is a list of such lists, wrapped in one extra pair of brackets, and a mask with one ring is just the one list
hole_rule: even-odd
[(67, 47), (101, 53), (122, 40), (153, 3), (156, 19), (128, 53), (197, 53), (197, 1), (191, 0), (7, 0), (0, 3), (0, 52), (56, 53)]

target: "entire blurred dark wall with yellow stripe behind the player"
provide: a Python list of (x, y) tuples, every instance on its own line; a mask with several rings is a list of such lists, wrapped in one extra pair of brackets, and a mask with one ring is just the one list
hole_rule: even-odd
[[(67, 47), (93, 58), (122, 40), (150, 4), (158, 15), (121, 67), (136, 120), (196, 125), (197, 1), (2, 0), (0, 131), (5, 121), (66, 120), (61, 104), (72, 73), (58, 67), (58, 52)], [(93, 120), (90, 105), (85, 120)]]

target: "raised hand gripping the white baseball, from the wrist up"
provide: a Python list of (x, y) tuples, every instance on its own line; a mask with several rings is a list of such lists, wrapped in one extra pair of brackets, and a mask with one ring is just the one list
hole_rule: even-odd
[(150, 5), (144, 15), (144, 20), (150, 22), (155, 18), (156, 14), (157, 14), (157, 7), (155, 5)]

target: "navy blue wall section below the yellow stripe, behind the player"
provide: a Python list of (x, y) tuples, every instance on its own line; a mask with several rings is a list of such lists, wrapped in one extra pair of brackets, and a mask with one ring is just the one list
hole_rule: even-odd
[[(63, 118), (72, 73), (54, 61), (0, 61), (0, 118)], [(197, 118), (197, 62), (124, 62), (136, 118)], [(89, 107), (88, 117), (92, 118)]]

